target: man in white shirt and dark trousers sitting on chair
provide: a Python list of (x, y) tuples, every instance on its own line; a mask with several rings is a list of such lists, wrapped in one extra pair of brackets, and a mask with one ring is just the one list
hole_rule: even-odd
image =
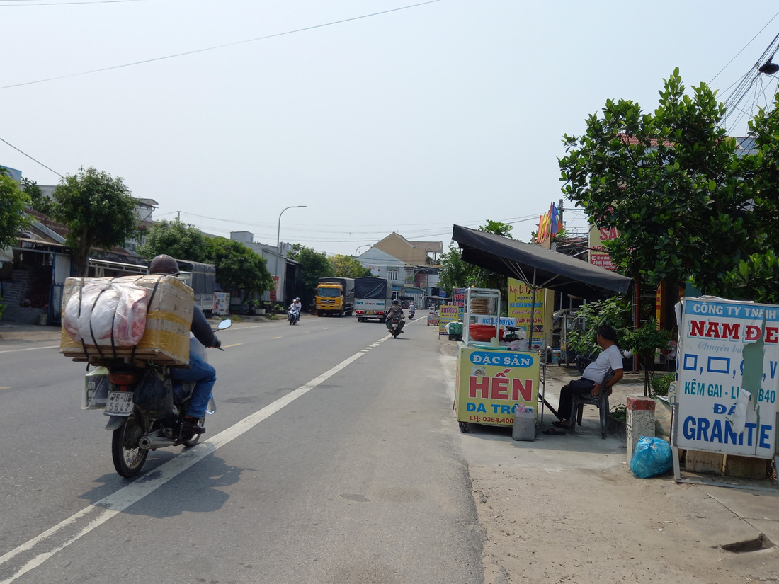
[(553, 422), (557, 427), (569, 427), (570, 424), (574, 423), (573, 417), (576, 412), (571, 411), (571, 396), (574, 393), (580, 395), (589, 393), (590, 396), (597, 396), (598, 392), (601, 391), (601, 382), (609, 368), (614, 371), (614, 376), (609, 380), (608, 387), (612, 387), (622, 379), (622, 353), (617, 348), (617, 333), (611, 326), (601, 325), (597, 329), (595, 339), (603, 349), (601, 354), (597, 356), (595, 361), (587, 365), (581, 379), (575, 379), (560, 389), (560, 404), (557, 408), (557, 417), (560, 418), (560, 421)]

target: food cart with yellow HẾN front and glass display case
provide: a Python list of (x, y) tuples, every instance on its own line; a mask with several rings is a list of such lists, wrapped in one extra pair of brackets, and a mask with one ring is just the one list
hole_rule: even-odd
[[(463, 340), (457, 343), (454, 399), (460, 430), (469, 431), (469, 424), (511, 426), (515, 406), (532, 408), (538, 416), (540, 355), (499, 344), (503, 330), (499, 290), (467, 288), (465, 294), (467, 312)], [(491, 326), (478, 325), (484, 317), (492, 317), (494, 334)], [(484, 336), (485, 330), (489, 337)]]

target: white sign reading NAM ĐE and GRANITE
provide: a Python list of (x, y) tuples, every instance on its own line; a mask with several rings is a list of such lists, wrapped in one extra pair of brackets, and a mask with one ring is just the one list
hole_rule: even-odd
[(779, 306), (702, 297), (683, 298), (680, 308), (675, 445), (771, 458)]

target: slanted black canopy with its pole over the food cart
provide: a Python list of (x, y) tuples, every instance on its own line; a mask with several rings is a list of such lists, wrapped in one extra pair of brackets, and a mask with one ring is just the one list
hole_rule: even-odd
[[(630, 287), (631, 280), (626, 276), (591, 266), (569, 255), (552, 252), (540, 245), (526, 244), (510, 237), (460, 225), (454, 226), (452, 239), (460, 245), (464, 262), (516, 278), (530, 288), (533, 302), (528, 332), (530, 347), (533, 346), (535, 294), (540, 288), (597, 300), (613, 293), (625, 293)], [(555, 417), (559, 417), (543, 395), (541, 401), (552, 410)]]

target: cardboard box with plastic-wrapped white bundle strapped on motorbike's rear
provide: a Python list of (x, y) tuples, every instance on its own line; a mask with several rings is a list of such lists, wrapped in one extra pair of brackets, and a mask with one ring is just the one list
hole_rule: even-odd
[(175, 276), (68, 278), (59, 352), (73, 361), (189, 364), (192, 288)]

